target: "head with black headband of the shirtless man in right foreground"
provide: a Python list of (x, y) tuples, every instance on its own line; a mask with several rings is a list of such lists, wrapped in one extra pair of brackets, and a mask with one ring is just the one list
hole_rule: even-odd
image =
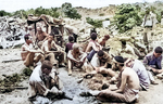
[(115, 66), (117, 68), (123, 67), (124, 66), (124, 58), (122, 56), (114, 56), (113, 58)]

